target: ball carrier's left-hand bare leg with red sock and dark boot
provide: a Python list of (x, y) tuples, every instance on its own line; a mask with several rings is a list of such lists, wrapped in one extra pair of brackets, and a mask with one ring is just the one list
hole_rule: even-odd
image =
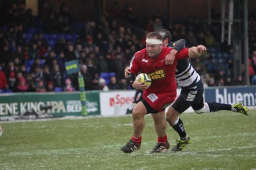
[(135, 105), (132, 110), (132, 119), (133, 119), (133, 135), (131, 140), (122, 146), (121, 150), (125, 153), (131, 153), (134, 150), (139, 150), (141, 145), (141, 135), (143, 128), (145, 127), (144, 116), (147, 114), (147, 109), (143, 102), (139, 102)]

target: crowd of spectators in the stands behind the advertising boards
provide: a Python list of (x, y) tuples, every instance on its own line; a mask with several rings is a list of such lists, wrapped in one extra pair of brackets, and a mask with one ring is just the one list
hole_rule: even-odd
[[(232, 47), (220, 43), (218, 26), (209, 29), (199, 20), (166, 26), (164, 19), (156, 16), (141, 25), (145, 30), (141, 33), (141, 28), (124, 26), (118, 17), (115, 19), (114, 15), (131, 15), (129, 4), (125, 4), (120, 15), (112, 10), (112, 17), (99, 24), (77, 24), (72, 23), (66, 4), (59, 9), (45, 8), (44, 19), (40, 20), (24, 4), (6, 2), (0, 16), (4, 19), (0, 27), (0, 92), (77, 91), (78, 74), (68, 75), (65, 70), (65, 62), (74, 59), (79, 60), (86, 90), (131, 89), (124, 69), (133, 54), (145, 47), (145, 35), (159, 28), (168, 29), (173, 40), (184, 38), (187, 47), (207, 47), (202, 58), (191, 59), (205, 86), (244, 84), (241, 75), (232, 77)], [(255, 38), (253, 12), (249, 29)], [(129, 17), (125, 21), (131, 20)], [(255, 43), (253, 40), (250, 44), (248, 61), (251, 84), (256, 84)]]

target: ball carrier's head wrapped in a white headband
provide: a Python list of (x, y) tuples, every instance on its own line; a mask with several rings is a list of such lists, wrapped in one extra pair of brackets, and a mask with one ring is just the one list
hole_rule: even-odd
[(163, 37), (157, 32), (150, 32), (146, 36), (146, 49), (150, 58), (156, 58), (162, 50)]

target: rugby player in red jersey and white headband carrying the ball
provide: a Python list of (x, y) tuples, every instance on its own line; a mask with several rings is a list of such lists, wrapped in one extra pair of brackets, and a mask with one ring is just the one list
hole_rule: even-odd
[[(135, 105), (132, 110), (133, 135), (131, 140), (122, 146), (121, 150), (131, 153), (140, 149), (141, 135), (145, 126), (144, 116), (152, 114), (157, 133), (157, 147), (167, 150), (170, 144), (166, 135), (166, 120), (164, 109), (172, 104), (176, 97), (175, 70), (178, 59), (200, 56), (205, 52), (204, 45), (184, 48), (175, 55), (172, 65), (166, 65), (164, 58), (170, 54), (172, 47), (162, 47), (163, 37), (157, 32), (148, 33), (146, 37), (146, 48), (134, 54), (130, 63), (130, 74), (127, 82), (135, 89), (143, 89), (143, 100)], [(135, 80), (139, 72), (147, 73), (152, 78), (149, 88), (144, 82)], [(166, 86), (168, 84), (168, 86)], [(154, 151), (154, 150), (153, 150)]]

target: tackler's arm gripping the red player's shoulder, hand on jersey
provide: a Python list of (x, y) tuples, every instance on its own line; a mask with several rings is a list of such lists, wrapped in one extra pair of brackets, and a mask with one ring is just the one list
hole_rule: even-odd
[(164, 58), (166, 65), (172, 65), (172, 63), (175, 59), (175, 54), (177, 54), (180, 50), (182, 50), (185, 47), (186, 41), (184, 39), (180, 39), (177, 42), (174, 42), (172, 45), (173, 45), (172, 50)]

